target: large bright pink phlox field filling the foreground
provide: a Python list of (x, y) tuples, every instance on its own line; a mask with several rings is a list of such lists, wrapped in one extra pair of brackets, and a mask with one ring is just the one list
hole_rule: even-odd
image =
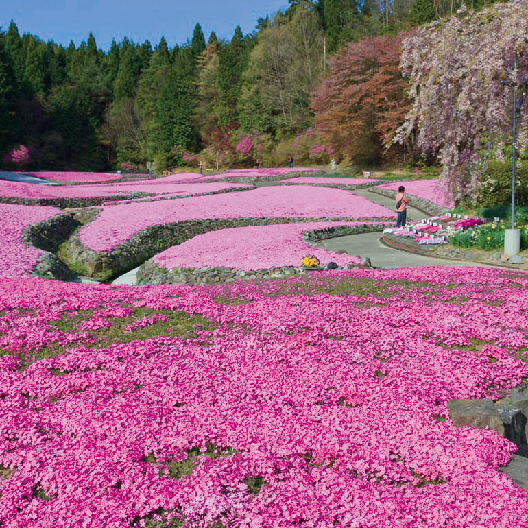
[[(332, 278), (371, 293), (309, 294)], [(528, 376), (528, 276), (308, 280), (1, 279), (2, 527), (527, 527), (528, 492), (496, 469), (516, 446), (453, 427), (447, 402), (495, 398)], [(58, 326), (81, 313), (115, 324), (134, 307), (215, 326), (95, 348), (84, 344), (97, 331)], [(34, 358), (50, 343), (62, 355)], [(169, 473), (191, 449), (192, 472)]]

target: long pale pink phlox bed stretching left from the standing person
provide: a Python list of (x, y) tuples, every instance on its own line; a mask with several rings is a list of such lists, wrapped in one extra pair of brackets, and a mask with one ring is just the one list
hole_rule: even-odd
[(94, 251), (109, 251), (137, 232), (159, 224), (187, 220), (237, 218), (385, 218), (396, 213), (350, 191), (310, 186), (260, 187), (251, 191), (102, 206), (80, 230)]

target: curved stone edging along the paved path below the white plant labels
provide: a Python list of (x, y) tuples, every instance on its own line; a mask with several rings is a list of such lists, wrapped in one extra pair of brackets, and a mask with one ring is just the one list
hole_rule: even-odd
[(507, 269), (528, 269), (526, 264), (511, 264), (501, 259), (496, 259), (497, 252), (490, 253), (483, 250), (470, 250), (464, 248), (454, 248), (452, 245), (418, 245), (414, 241), (403, 239), (402, 237), (395, 237), (390, 233), (385, 233), (381, 237), (381, 242), (389, 248), (400, 251), (407, 251), (409, 253), (431, 256), (436, 259), (446, 259), (451, 261), (470, 261), (481, 264), (493, 265), (495, 267), (504, 267)]

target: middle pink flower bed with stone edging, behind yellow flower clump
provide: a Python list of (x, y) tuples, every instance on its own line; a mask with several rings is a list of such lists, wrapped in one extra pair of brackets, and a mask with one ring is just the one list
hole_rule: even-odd
[(360, 256), (314, 248), (313, 241), (381, 231), (386, 224), (307, 222), (210, 231), (156, 254), (138, 273), (139, 284), (215, 284), (236, 278), (256, 279), (305, 274), (304, 256), (322, 265), (361, 265)]

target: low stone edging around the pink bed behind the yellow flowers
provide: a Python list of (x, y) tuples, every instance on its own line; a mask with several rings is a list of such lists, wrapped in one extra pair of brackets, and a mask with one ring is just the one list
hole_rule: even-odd
[[(385, 225), (363, 224), (359, 226), (332, 226), (311, 230), (302, 234), (302, 239), (313, 245), (317, 241), (344, 235), (359, 235), (365, 232), (379, 232)], [(354, 267), (368, 267), (363, 265), (348, 265)], [(233, 283), (235, 280), (255, 280), (262, 278), (281, 278), (291, 275), (306, 275), (317, 269), (308, 269), (302, 266), (284, 266), (246, 271), (229, 267), (202, 267), (198, 269), (176, 267), (167, 269), (154, 263), (152, 259), (146, 261), (138, 270), (137, 283), (146, 284), (185, 284), (185, 285), (215, 285)]]

